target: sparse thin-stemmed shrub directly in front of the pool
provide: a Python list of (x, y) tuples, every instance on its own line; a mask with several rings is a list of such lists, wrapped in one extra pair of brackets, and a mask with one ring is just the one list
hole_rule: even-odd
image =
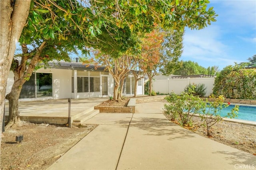
[(231, 119), (234, 117), (237, 117), (238, 108), (239, 106), (236, 105), (234, 108), (231, 109), (229, 113), (227, 113), (225, 116), (220, 115), (220, 111), (228, 107), (230, 103), (224, 104), (224, 97), (219, 96), (218, 98), (214, 98), (214, 102), (208, 102), (206, 99), (206, 102), (202, 103), (202, 110), (200, 113), (200, 117), (202, 121), (204, 121), (204, 125), (207, 128), (207, 136), (212, 136), (210, 134), (210, 128), (217, 123), (218, 121), (222, 120), (225, 117), (230, 117)]

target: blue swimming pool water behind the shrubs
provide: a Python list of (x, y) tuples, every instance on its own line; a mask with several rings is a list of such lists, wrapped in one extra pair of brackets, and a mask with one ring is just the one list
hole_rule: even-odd
[[(231, 111), (232, 108), (234, 108), (235, 105), (230, 105), (220, 112), (221, 116), (226, 115), (228, 112)], [(239, 106), (238, 111), (238, 117), (235, 117), (233, 119), (242, 119), (242, 120), (250, 120), (250, 121), (256, 121), (256, 107), (254, 106)]]

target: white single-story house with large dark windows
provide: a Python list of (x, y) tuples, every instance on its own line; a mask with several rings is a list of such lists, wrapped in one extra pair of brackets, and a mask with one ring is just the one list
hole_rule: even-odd
[[(48, 99), (83, 99), (113, 96), (114, 79), (104, 71), (104, 67), (84, 65), (76, 62), (49, 63), (49, 68), (36, 70), (22, 87), (21, 101)], [(144, 80), (137, 84), (137, 94), (144, 94)], [(12, 88), (14, 74), (8, 77), (6, 94)], [(124, 80), (123, 95), (134, 94), (134, 76), (129, 74)]]

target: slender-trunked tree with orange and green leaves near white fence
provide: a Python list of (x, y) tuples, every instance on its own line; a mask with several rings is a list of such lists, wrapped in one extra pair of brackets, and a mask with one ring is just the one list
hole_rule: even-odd
[(180, 66), (183, 32), (155, 29), (146, 34), (142, 43), (143, 72), (148, 75), (149, 95), (152, 92), (152, 79), (159, 72), (168, 76)]

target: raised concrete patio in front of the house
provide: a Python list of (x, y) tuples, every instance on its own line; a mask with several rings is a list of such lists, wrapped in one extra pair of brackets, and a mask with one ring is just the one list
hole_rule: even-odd
[[(92, 111), (94, 106), (109, 98), (71, 99), (70, 116), (75, 119), (79, 114)], [(20, 119), (64, 125), (68, 122), (68, 99), (38, 100), (19, 102)], [(5, 116), (9, 113), (9, 104), (5, 104)]]

